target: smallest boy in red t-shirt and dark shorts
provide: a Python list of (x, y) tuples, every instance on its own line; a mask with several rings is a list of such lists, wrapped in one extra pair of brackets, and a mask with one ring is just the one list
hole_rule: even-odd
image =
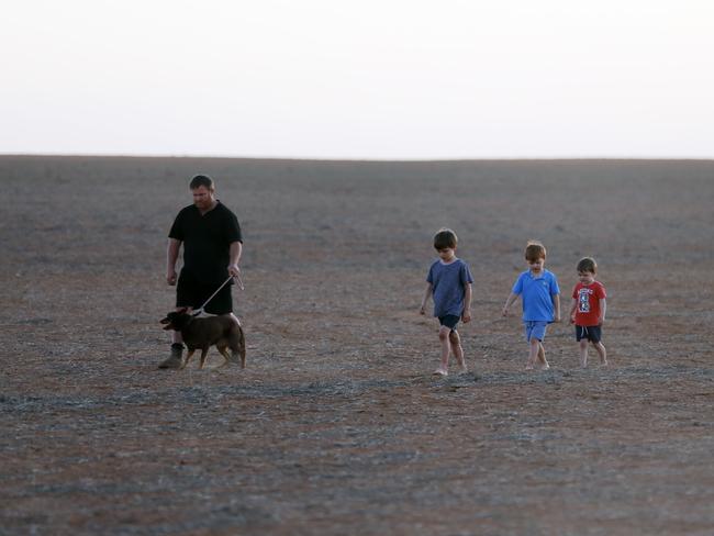
[(588, 340), (598, 350), (600, 364), (607, 366), (607, 351), (600, 340), (602, 324), (605, 322), (605, 288), (595, 281), (598, 264), (595, 259), (585, 257), (578, 263), (580, 282), (572, 290), (572, 306), (570, 323), (576, 325), (576, 340), (580, 343), (580, 365), (588, 366)]

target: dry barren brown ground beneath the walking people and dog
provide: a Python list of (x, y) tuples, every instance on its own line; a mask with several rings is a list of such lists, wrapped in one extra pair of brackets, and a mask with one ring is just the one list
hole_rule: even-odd
[[(212, 175), (248, 368), (159, 371), (166, 234)], [(714, 163), (0, 157), (0, 534), (712, 534)], [(476, 278), (470, 372), (416, 314), (433, 233)], [(612, 367), (523, 370), (500, 308), (594, 255)]]

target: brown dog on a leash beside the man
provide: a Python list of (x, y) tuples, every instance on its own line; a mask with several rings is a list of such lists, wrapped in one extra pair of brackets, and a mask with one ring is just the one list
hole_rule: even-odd
[[(245, 368), (245, 336), (243, 335), (243, 328), (238, 324), (231, 320), (230, 316), (197, 319), (187, 311), (187, 309), (180, 309), (168, 313), (166, 319), (161, 320), (161, 324), (166, 324), (164, 330), (181, 332), (183, 343), (189, 349), (181, 368), (189, 364), (193, 353), (199, 349), (201, 350), (199, 368), (203, 368), (205, 356), (213, 345), (225, 358), (225, 362), (221, 367), (224, 367), (230, 361), (236, 362), (237, 358), (241, 357), (241, 368)], [(231, 348), (231, 354), (228, 354), (228, 348)]]

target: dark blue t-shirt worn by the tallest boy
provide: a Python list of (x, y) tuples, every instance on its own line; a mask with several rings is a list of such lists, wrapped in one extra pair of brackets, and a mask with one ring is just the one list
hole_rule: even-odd
[(432, 283), (433, 288), (434, 316), (461, 316), (466, 286), (473, 282), (469, 265), (459, 258), (448, 265), (436, 259), (428, 269), (426, 282)]

